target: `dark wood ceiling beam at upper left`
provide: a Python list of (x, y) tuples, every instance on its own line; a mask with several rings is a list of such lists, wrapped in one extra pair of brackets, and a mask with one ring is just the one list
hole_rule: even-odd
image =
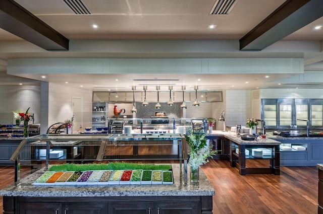
[(0, 28), (46, 50), (68, 50), (69, 40), (12, 0), (0, 0)]

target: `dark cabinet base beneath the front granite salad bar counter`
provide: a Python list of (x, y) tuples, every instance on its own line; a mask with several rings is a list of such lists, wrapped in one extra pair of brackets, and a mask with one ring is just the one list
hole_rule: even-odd
[(211, 214), (212, 196), (9, 197), (4, 214)]

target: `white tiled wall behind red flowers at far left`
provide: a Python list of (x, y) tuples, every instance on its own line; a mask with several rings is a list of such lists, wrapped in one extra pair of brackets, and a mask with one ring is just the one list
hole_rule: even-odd
[(12, 110), (34, 113), (34, 123), (40, 123), (40, 85), (0, 86), (0, 124), (16, 124)]

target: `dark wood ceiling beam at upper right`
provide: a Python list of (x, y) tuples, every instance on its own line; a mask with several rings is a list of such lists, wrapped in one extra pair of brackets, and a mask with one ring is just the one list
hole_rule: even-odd
[(239, 40), (240, 50), (262, 50), (322, 16), (322, 0), (288, 0)]

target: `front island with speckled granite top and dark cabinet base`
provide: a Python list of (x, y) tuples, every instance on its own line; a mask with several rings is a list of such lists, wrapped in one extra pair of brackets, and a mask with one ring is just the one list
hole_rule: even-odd
[[(172, 164), (174, 184), (34, 186), (45, 169), (0, 190), (4, 213), (212, 213), (214, 189), (202, 170), (199, 182), (184, 185), (179, 164)], [(118, 212), (116, 211), (118, 210)]]

